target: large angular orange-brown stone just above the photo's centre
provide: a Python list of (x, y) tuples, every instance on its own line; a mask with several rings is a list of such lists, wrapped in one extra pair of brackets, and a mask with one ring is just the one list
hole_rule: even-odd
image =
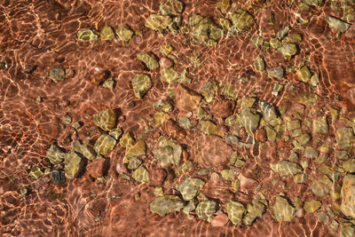
[(177, 85), (175, 105), (179, 110), (189, 112), (195, 110), (202, 97), (196, 91), (191, 90), (183, 84)]

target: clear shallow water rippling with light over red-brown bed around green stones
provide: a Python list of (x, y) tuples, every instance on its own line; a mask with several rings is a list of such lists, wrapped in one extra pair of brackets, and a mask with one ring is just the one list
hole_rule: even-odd
[[(217, 1), (184, 0), (184, 12), (180, 14), (182, 26), (188, 24), (188, 18), (193, 14), (209, 17), (216, 24), (219, 18), (226, 14), (217, 10)], [(337, 36), (335, 29), (329, 28), (325, 17), (328, 15), (342, 18), (347, 10), (342, 8), (341, 1), (328, 1), (321, 7), (311, 7), (308, 12), (300, 10), (296, 1), (270, 0), (266, 1), (231, 1), (228, 12), (245, 9), (253, 15), (256, 24), (247, 32), (236, 36), (223, 36), (216, 47), (207, 47), (193, 43), (191, 34), (173, 36), (169, 31), (159, 34), (145, 27), (146, 18), (159, 11), (161, 1), (0, 1), (0, 230), (3, 236), (337, 236), (340, 227), (331, 230), (330, 221), (323, 224), (317, 217), (317, 212), (327, 212), (327, 207), (334, 206), (339, 200), (334, 200), (328, 194), (317, 197), (310, 190), (314, 178), (319, 177), (319, 163), (316, 159), (300, 154), (299, 163), (308, 161), (304, 169), (308, 177), (305, 184), (296, 184), (293, 177), (283, 177), (270, 169), (271, 163), (286, 160), (293, 148), (291, 140), (284, 137), (288, 131), (276, 141), (263, 141), (249, 146), (230, 146), (241, 155), (248, 155), (248, 160), (241, 168), (233, 168), (236, 176), (242, 174), (250, 180), (241, 185), (240, 192), (233, 192), (230, 182), (220, 179), (206, 187), (207, 197), (213, 195), (209, 189), (219, 190), (220, 197), (209, 197), (221, 203), (225, 201), (241, 201), (245, 205), (261, 192), (268, 201), (268, 207), (263, 217), (253, 225), (233, 225), (231, 221), (223, 226), (212, 226), (208, 221), (201, 220), (194, 212), (189, 219), (181, 211), (160, 217), (149, 210), (149, 204), (156, 196), (154, 186), (163, 186), (165, 194), (177, 194), (174, 186), (185, 177), (198, 177), (209, 181), (211, 172), (220, 173), (228, 165), (209, 167), (208, 175), (199, 176), (194, 171), (198, 167), (206, 167), (200, 162), (203, 157), (197, 155), (215, 154), (209, 160), (222, 159), (228, 153), (227, 149), (218, 151), (212, 147), (196, 152), (195, 148), (215, 146), (204, 140), (197, 119), (196, 110), (190, 117), (193, 129), (186, 129), (185, 138), (178, 140), (183, 147), (182, 161), (194, 162), (193, 170), (181, 177), (176, 177), (176, 166), (163, 168), (167, 178), (163, 184), (140, 184), (122, 178), (116, 172), (119, 164), (122, 170), (131, 176), (131, 171), (125, 168), (123, 157), (125, 149), (115, 146), (106, 156), (108, 167), (105, 178), (94, 180), (83, 171), (83, 174), (63, 184), (53, 185), (50, 176), (36, 180), (30, 178), (32, 167), (41, 170), (57, 169), (46, 158), (46, 151), (53, 142), (71, 150), (71, 142), (75, 139), (89, 137), (95, 140), (102, 130), (92, 121), (92, 116), (106, 108), (119, 110), (118, 127), (124, 132), (131, 132), (136, 138), (142, 134), (146, 141), (146, 155), (142, 157), (143, 165), (151, 174), (153, 170), (161, 170), (152, 151), (158, 147), (157, 139), (166, 135), (162, 127), (153, 127), (154, 113), (152, 104), (164, 99), (174, 106), (174, 100), (169, 99), (167, 91), (177, 83), (161, 81), (160, 68), (149, 71), (136, 58), (141, 51), (152, 51), (157, 58), (162, 58), (160, 47), (170, 43), (171, 52), (178, 57), (179, 63), (174, 68), (181, 74), (187, 69), (187, 76), (192, 83), (186, 84), (193, 91), (200, 92), (202, 86), (209, 81), (233, 85), (238, 95), (234, 100), (233, 114), (241, 112), (241, 104), (237, 100), (256, 97), (272, 103), (275, 107), (292, 105), (286, 115), (298, 118), (296, 112), (303, 110), (296, 103), (296, 98), (304, 92), (319, 95), (319, 100), (311, 107), (305, 107), (300, 119), (312, 122), (316, 116), (327, 115), (329, 131), (326, 135), (312, 136), (307, 146), (315, 148), (327, 145), (330, 151), (320, 154), (327, 157), (327, 165), (333, 168), (339, 166), (335, 157), (335, 130), (341, 126), (354, 126), (333, 119), (328, 107), (339, 111), (339, 117), (354, 117), (355, 86), (355, 28), (353, 25)], [(293, 3), (295, 2), (295, 3)], [(349, 8), (354, 8), (353, 1), (346, 2)], [(274, 16), (273, 24), (267, 23)], [(299, 24), (300, 19), (309, 20), (307, 24)], [(354, 20), (348, 21), (353, 24)], [(100, 30), (105, 25), (113, 28), (126, 26), (133, 30), (141, 30), (135, 34), (129, 43), (123, 43), (116, 36), (113, 40), (97, 40), (80, 42), (76, 33), (80, 29), (94, 28)], [(251, 42), (255, 36), (263, 36), (264, 41), (275, 37), (276, 32), (288, 26), (289, 33), (302, 35), (302, 42), (296, 43), (297, 54), (290, 60), (285, 60), (280, 53), (272, 48), (263, 52), (263, 47), (256, 47)], [(194, 51), (200, 51), (201, 66), (193, 66), (190, 57)], [(266, 71), (272, 67), (298, 67), (301, 62), (310, 68), (312, 73), (319, 74), (319, 83), (312, 87), (309, 83), (298, 80), (296, 73), (289, 73), (282, 81), (268, 78), (267, 73), (261, 74), (252, 66), (256, 58), (262, 57), (266, 63)], [(4, 68), (1, 68), (4, 67)], [(49, 78), (51, 68), (59, 67), (67, 70), (66, 79), (54, 83)], [(150, 75), (153, 87), (143, 99), (137, 99), (132, 91), (130, 81), (136, 74)], [(102, 87), (101, 83), (112, 76), (114, 89)], [(242, 83), (241, 77), (248, 78)], [(239, 78), (239, 79), (238, 79)], [(284, 85), (280, 93), (272, 93), (272, 84)], [(291, 91), (292, 90), (292, 91)], [(42, 101), (36, 103), (36, 98)], [(204, 103), (207, 112), (218, 111), (222, 102)], [(303, 106), (301, 106), (303, 107)], [(172, 120), (186, 113), (174, 107), (169, 113)], [(79, 129), (65, 125), (61, 119), (70, 115), (73, 122), (82, 122)], [(217, 124), (225, 135), (232, 134), (235, 128), (225, 126), (225, 118), (214, 115), (209, 120)], [(154, 124), (154, 123), (153, 123)], [(260, 125), (262, 127), (264, 125)], [(312, 127), (303, 126), (303, 132), (312, 134)], [(236, 135), (236, 134), (234, 134)], [(237, 137), (242, 143), (249, 138), (246, 130), (241, 129)], [(206, 138), (207, 139), (207, 138)], [(221, 138), (222, 139), (222, 138)], [(256, 138), (257, 139), (257, 138)], [(202, 142), (201, 142), (202, 141)], [(349, 152), (353, 155), (353, 150)], [(88, 161), (86, 161), (88, 162)], [(90, 161), (88, 162), (90, 163)], [(345, 172), (341, 172), (342, 183)], [(157, 175), (157, 179), (160, 178)], [(153, 178), (152, 178), (153, 177)], [(274, 181), (275, 180), (275, 181)], [(152, 181), (152, 182), (153, 182)], [(275, 182), (275, 183), (273, 183)], [(28, 194), (22, 196), (20, 187), (26, 187)], [(257, 189), (256, 189), (257, 186)], [(296, 197), (302, 201), (317, 199), (322, 207), (304, 217), (294, 217), (291, 222), (278, 222), (272, 215), (274, 199), (280, 193), (289, 200)], [(136, 195), (139, 194), (139, 197)], [(135, 196), (136, 195), (136, 196)], [(336, 208), (335, 208), (336, 209)], [(328, 213), (328, 212), (327, 212)], [(341, 212), (335, 213), (330, 220), (335, 219), (339, 225), (345, 220)], [(345, 236), (345, 235), (344, 235)], [(350, 235), (349, 235), (350, 236)]]

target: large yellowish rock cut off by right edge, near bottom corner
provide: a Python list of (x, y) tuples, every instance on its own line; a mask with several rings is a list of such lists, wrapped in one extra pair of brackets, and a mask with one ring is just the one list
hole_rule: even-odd
[(346, 175), (343, 178), (341, 190), (341, 210), (345, 216), (355, 218), (355, 176)]

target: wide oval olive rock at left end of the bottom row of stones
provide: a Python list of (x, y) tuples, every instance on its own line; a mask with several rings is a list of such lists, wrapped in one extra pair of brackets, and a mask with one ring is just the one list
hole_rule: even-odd
[(179, 211), (184, 208), (185, 202), (174, 195), (164, 195), (156, 198), (150, 203), (150, 210), (153, 213), (165, 216), (171, 212)]

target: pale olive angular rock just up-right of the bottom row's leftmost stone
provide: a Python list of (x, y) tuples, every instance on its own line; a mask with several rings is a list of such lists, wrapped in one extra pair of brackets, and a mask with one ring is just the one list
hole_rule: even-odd
[(205, 182), (200, 178), (185, 178), (185, 180), (175, 186), (175, 188), (181, 193), (185, 201), (189, 201), (199, 194), (204, 185)]

